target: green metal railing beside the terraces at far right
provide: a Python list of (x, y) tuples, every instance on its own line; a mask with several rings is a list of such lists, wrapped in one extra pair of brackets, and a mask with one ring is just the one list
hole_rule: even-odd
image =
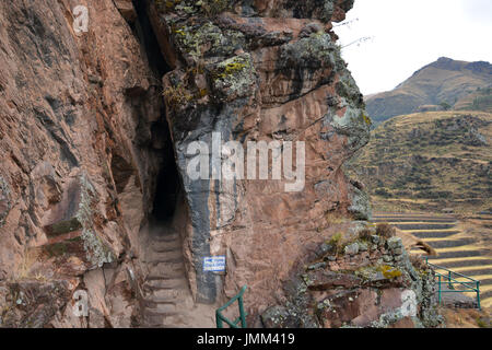
[[(438, 303), (441, 304), (443, 301), (443, 293), (465, 293), (465, 292), (475, 292), (477, 293), (477, 306), (479, 310), (482, 310), (480, 306), (480, 281), (472, 279), (471, 277), (452, 271), (445, 267), (434, 265), (429, 262), (429, 258), (425, 258), (425, 262), (434, 269), (435, 276), (437, 278), (438, 282)], [(444, 275), (437, 272), (436, 270), (444, 270), (446, 271)], [(455, 277), (461, 277), (468, 281), (461, 282), (455, 279)], [(464, 287), (465, 289), (455, 289), (455, 285), (458, 285), (458, 288)], [(442, 285), (447, 285), (447, 290), (443, 290)]]

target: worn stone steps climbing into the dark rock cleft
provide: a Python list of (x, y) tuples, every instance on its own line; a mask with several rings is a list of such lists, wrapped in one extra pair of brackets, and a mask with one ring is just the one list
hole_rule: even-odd
[(214, 327), (214, 307), (194, 302), (179, 234), (171, 228), (154, 229), (149, 233), (147, 250), (143, 327)]

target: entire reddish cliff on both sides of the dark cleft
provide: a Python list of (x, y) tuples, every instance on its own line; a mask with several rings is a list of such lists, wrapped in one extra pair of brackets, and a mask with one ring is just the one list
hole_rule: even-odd
[[(171, 226), (194, 302), (213, 310), (247, 284), (260, 325), (320, 244), (371, 215), (341, 170), (371, 126), (332, 32), (352, 5), (2, 2), (0, 325), (141, 326), (151, 233)], [(216, 140), (265, 141), (297, 166), (276, 177), (273, 156), (263, 179), (221, 178), (212, 155), (210, 178), (190, 176)], [(81, 291), (89, 317), (73, 313)]]

